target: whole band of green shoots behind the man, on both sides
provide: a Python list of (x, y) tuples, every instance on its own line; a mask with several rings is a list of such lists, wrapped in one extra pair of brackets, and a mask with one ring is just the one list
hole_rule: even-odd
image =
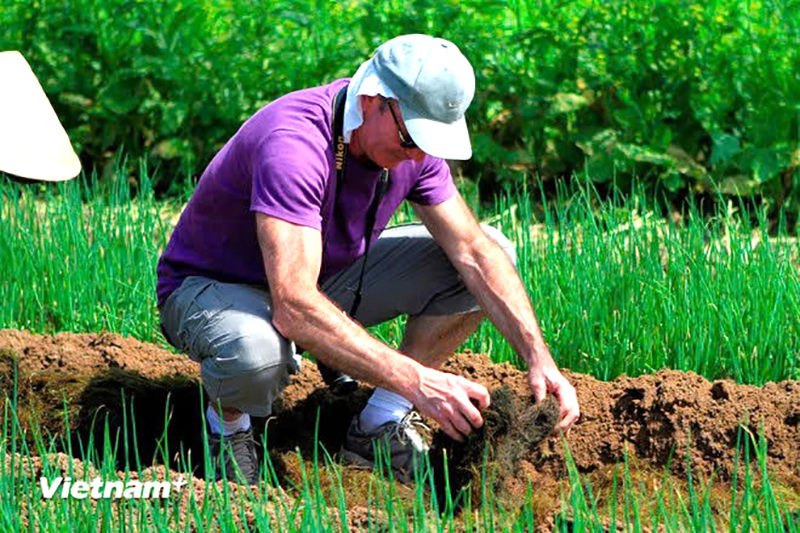
[[(125, 184), (0, 182), (0, 327), (163, 343), (155, 266), (179, 208), (157, 202), (147, 181), (135, 195)], [(782, 228), (771, 238), (763, 217), (730, 206), (676, 222), (641, 195), (623, 204), (562, 192), (539, 207), (531, 196), (478, 210), (515, 242), (560, 365), (601, 379), (665, 367), (753, 384), (800, 377), (800, 244)], [(402, 327), (373, 331), (397, 344)], [(517, 361), (488, 322), (464, 347)]]

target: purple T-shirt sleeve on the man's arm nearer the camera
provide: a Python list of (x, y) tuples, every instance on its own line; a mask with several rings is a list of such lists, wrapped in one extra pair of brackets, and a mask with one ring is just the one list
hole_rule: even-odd
[(321, 230), (330, 169), (317, 146), (308, 135), (292, 130), (276, 130), (264, 138), (251, 160), (250, 210)]

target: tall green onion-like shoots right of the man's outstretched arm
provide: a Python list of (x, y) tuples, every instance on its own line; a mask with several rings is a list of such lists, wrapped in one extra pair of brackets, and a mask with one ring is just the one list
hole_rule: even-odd
[[(677, 225), (642, 196), (591, 191), (538, 216), (524, 195), (493, 211), (561, 364), (601, 379), (664, 367), (755, 384), (800, 375), (800, 245), (769, 239), (763, 217), (690, 209)], [(488, 326), (470, 347), (514, 359)]]

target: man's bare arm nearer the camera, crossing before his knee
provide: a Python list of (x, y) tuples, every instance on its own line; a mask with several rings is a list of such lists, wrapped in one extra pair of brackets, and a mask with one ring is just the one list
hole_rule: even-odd
[(353, 377), (396, 392), (433, 417), (453, 438), (483, 424), (486, 389), (427, 368), (373, 338), (317, 287), (319, 231), (256, 214), (258, 240), (272, 296), (272, 321), (284, 337)]

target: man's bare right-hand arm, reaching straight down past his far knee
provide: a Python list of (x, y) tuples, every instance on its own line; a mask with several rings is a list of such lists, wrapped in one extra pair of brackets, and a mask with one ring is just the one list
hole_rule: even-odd
[(414, 209), (483, 311), (528, 362), (536, 399), (543, 399), (546, 391), (559, 397), (560, 427), (569, 429), (580, 416), (575, 389), (558, 371), (525, 287), (505, 252), (486, 236), (459, 194), (441, 204), (414, 205)]

